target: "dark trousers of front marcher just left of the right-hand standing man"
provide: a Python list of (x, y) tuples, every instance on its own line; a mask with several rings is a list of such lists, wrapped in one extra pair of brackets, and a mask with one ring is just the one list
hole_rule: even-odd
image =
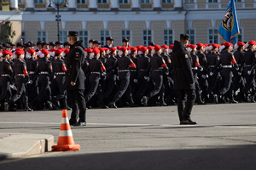
[(151, 78), (154, 82), (154, 89), (147, 95), (152, 98), (160, 93), (160, 98), (163, 96), (163, 71), (152, 71)]

